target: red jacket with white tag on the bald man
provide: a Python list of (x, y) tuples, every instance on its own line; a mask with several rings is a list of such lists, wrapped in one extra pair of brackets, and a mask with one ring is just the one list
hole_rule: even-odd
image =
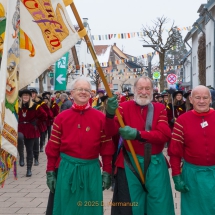
[[(201, 123), (207, 125), (202, 128)], [(182, 158), (194, 165), (215, 165), (215, 111), (198, 114), (194, 110), (181, 115), (175, 122), (168, 148), (172, 175), (181, 173)]]

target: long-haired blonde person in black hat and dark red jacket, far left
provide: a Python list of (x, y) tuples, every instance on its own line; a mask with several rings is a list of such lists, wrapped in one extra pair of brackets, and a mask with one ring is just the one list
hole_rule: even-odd
[[(20, 156), (20, 166), (24, 166), (24, 145), (26, 147), (26, 160), (27, 160), (27, 173), (26, 177), (31, 177), (32, 164), (33, 164), (33, 149), (35, 142), (40, 137), (40, 131), (37, 127), (37, 121), (45, 121), (47, 118), (46, 112), (36, 103), (32, 101), (31, 91), (28, 89), (19, 91), (19, 122), (18, 122), (18, 152)], [(24, 145), (23, 145), (24, 144)], [(37, 157), (38, 158), (38, 157)]]

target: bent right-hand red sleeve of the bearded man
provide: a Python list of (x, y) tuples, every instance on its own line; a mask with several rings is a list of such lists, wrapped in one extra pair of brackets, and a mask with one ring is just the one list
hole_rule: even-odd
[(152, 131), (140, 131), (141, 137), (152, 144), (161, 144), (170, 141), (171, 130), (168, 125), (166, 110), (160, 112), (157, 125)]

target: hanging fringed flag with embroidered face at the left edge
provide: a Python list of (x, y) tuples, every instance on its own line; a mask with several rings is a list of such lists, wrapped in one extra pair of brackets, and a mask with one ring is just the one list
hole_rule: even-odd
[(19, 74), (19, 0), (1, 0), (0, 186), (14, 166), (16, 177)]

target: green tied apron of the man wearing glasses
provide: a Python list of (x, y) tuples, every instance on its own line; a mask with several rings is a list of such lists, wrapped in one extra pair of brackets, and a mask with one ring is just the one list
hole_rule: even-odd
[(99, 160), (61, 154), (53, 215), (102, 215), (102, 176)]

